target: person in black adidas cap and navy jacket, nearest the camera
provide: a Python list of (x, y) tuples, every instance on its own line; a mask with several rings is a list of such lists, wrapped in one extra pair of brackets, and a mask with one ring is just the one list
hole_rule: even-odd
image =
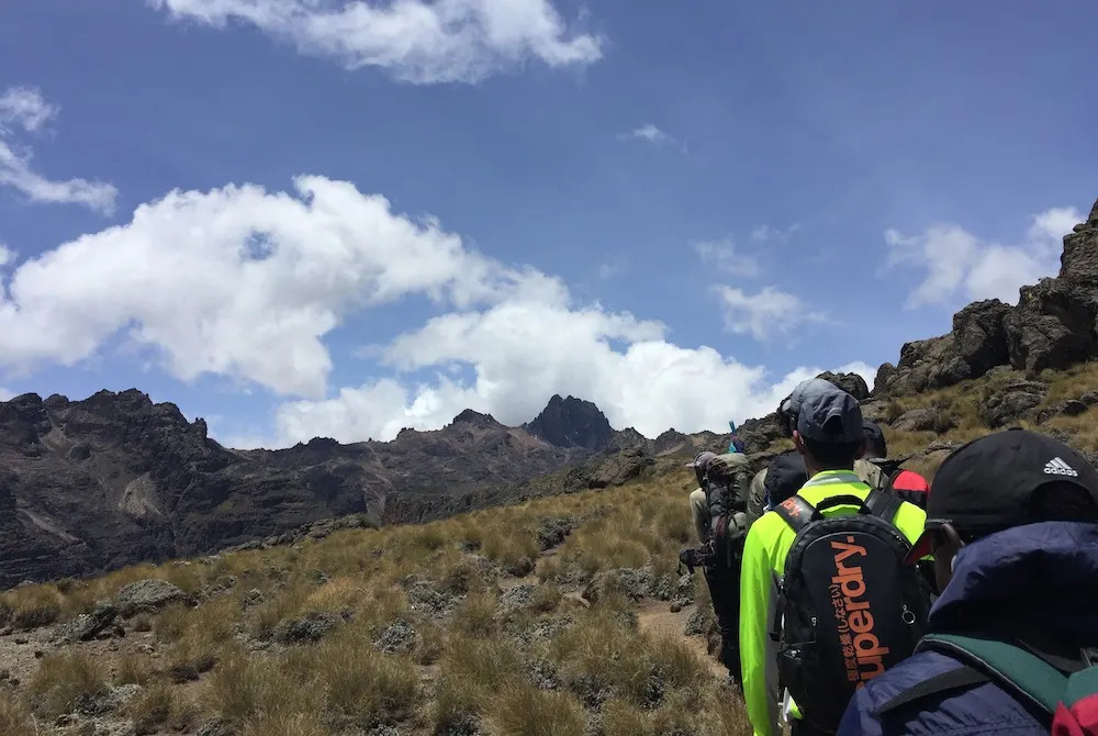
[[(927, 502), (912, 556), (932, 549), (942, 588), (930, 635), (855, 695), (841, 736), (1049, 734), (1053, 723), (1098, 734), (1098, 472), (1063, 443), (1006, 430), (950, 455)], [(1065, 694), (1088, 648), (1090, 669)], [(1086, 695), (1074, 727), (1062, 722), (1069, 707), (1053, 716)]]

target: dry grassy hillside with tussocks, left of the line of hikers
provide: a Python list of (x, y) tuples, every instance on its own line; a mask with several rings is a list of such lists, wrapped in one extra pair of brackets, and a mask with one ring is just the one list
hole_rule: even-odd
[[(681, 472), (9, 591), (0, 733), (747, 733), (706, 654), (707, 600), (683, 635), (688, 490)], [(149, 578), (192, 600), (52, 642)]]

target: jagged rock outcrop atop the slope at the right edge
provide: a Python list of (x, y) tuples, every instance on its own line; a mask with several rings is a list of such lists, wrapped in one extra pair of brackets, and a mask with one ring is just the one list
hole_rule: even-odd
[(1064, 236), (1060, 275), (1022, 287), (1017, 306), (975, 302), (953, 331), (906, 344), (899, 363), (881, 366), (874, 394), (917, 393), (979, 378), (998, 366), (1035, 377), (1098, 357), (1098, 202)]

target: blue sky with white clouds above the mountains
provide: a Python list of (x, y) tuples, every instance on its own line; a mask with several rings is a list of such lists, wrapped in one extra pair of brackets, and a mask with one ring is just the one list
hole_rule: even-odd
[(1098, 197), (1093, 3), (394, 8), (4, 3), (0, 387), (719, 430), (1013, 301)]

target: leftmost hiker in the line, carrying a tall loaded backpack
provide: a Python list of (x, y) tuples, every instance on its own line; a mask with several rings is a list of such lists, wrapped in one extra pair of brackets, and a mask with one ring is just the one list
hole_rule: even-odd
[(698, 488), (690, 495), (694, 528), (702, 548), (684, 549), (680, 560), (693, 571), (702, 566), (713, 612), (720, 629), (720, 663), (733, 683), (740, 683), (739, 580), (740, 555), (747, 536), (747, 490), (750, 465), (742, 453), (698, 453), (687, 467)]

